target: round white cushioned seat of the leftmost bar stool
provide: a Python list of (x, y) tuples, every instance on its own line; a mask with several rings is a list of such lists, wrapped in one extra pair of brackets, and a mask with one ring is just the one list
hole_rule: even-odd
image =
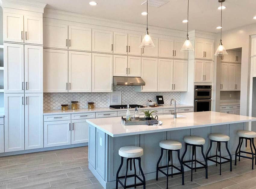
[(118, 154), (127, 158), (141, 157), (143, 155), (143, 148), (138, 146), (124, 146), (119, 148)]

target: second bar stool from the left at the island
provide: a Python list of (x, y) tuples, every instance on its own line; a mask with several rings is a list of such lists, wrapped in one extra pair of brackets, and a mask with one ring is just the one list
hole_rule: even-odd
[[(159, 142), (159, 146), (161, 147), (161, 155), (159, 157), (159, 160), (158, 160), (157, 166), (156, 166), (156, 180), (158, 180), (158, 171), (160, 171), (167, 177), (166, 188), (168, 188), (168, 177), (169, 176), (173, 177), (173, 175), (182, 174), (182, 185), (184, 185), (184, 169), (183, 169), (182, 161), (180, 160), (180, 149), (182, 148), (182, 144), (180, 142), (173, 141), (173, 140), (164, 140), (164, 141)], [(167, 153), (168, 153), (167, 165), (159, 167), (159, 163), (163, 157), (164, 150), (167, 150)], [(178, 160), (180, 162), (180, 169), (173, 165), (173, 151), (177, 152)], [(169, 165), (170, 161), (171, 161), (171, 165)], [(169, 174), (169, 167), (171, 167), (171, 171), (172, 171), (171, 174)], [(167, 168), (167, 173), (162, 171), (161, 170), (162, 168)], [(179, 172), (173, 173), (173, 168), (177, 169)]]

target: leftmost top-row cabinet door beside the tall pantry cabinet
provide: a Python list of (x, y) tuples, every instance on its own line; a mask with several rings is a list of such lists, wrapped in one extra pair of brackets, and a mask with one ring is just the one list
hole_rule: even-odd
[(63, 24), (43, 23), (44, 47), (67, 49), (68, 27)]

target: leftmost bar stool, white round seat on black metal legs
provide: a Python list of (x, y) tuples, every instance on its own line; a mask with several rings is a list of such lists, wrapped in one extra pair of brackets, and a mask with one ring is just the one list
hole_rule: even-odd
[[(136, 188), (136, 186), (143, 185), (143, 189), (145, 189), (146, 188), (146, 179), (145, 179), (144, 173), (141, 168), (141, 158), (140, 158), (143, 155), (143, 148), (138, 147), (138, 146), (124, 146), (119, 149), (118, 154), (121, 156), (121, 164), (117, 170), (116, 189), (118, 188), (118, 182), (122, 185), (123, 188), (130, 188), (130, 187)], [(125, 173), (125, 176), (118, 176), (119, 172), (123, 166), (123, 158), (124, 157), (127, 158), (126, 173)], [(134, 174), (127, 175), (129, 161), (130, 161), (130, 170), (132, 170), (132, 160), (133, 160), (133, 166), (134, 166)], [(141, 172), (143, 180), (138, 175), (136, 175), (135, 160), (139, 161), (139, 170)], [(134, 177), (134, 184), (126, 186), (126, 179), (129, 177)], [(120, 179), (123, 179), (123, 178), (124, 178), (124, 184), (120, 181)], [(141, 181), (141, 183), (136, 184), (136, 178), (138, 178)]]

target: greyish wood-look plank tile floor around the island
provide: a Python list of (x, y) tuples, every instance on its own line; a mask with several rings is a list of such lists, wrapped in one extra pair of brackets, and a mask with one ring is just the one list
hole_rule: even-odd
[[(85, 188), (102, 189), (101, 184), (88, 169), (88, 147), (68, 148), (54, 151), (0, 157), (0, 189), (5, 188)], [(185, 173), (185, 185), (181, 185), (181, 175), (169, 179), (169, 189), (176, 188), (254, 188), (256, 189), (256, 166), (251, 169), (251, 160), (242, 158), (233, 172), (229, 163), (208, 167), (208, 179), (204, 169)], [(147, 189), (166, 188), (166, 178), (146, 182)], [(138, 187), (141, 188), (141, 187)]]

